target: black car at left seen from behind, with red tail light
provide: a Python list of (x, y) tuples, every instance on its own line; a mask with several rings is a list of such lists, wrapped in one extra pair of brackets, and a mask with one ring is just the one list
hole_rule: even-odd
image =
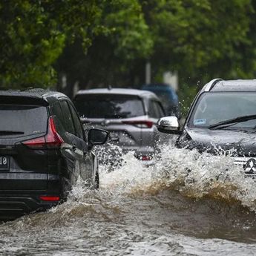
[(48, 209), (67, 197), (78, 177), (99, 187), (93, 145), (108, 132), (88, 138), (65, 94), (45, 90), (0, 91), (0, 217)]

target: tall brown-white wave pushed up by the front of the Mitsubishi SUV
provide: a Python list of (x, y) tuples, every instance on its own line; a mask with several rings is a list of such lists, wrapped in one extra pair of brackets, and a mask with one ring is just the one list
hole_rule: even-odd
[(255, 180), (245, 177), (243, 168), (225, 154), (212, 156), (165, 146), (157, 163), (157, 177), (160, 183), (187, 197), (239, 201), (256, 211)]

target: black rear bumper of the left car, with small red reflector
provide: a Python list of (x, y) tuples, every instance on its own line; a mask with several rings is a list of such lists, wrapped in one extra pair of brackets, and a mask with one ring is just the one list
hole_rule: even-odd
[[(10, 220), (33, 211), (45, 211), (62, 200), (59, 175), (0, 173), (0, 220)], [(45, 201), (40, 196), (60, 200)]]

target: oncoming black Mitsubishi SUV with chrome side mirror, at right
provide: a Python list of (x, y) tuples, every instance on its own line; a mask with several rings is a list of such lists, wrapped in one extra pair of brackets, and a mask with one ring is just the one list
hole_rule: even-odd
[(256, 80), (213, 79), (197, 94), (183, 128), (176, 116), (157, 122), (159, 131), (180, 134), (180, 148), (226, 154), (246, 177), (256, 177)]

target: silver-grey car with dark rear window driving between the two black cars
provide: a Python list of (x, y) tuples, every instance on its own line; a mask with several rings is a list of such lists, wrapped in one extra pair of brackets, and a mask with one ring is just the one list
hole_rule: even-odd
[(136, 157), (151, 165), (160, 136), (155, 124), (165, 115), (154, 93), (99, 88), (78, 91), (73, 102), (85, 130), (104, 128), (110, 132), (111, 145), (119, 146), (122, 152), (134, 151)]

